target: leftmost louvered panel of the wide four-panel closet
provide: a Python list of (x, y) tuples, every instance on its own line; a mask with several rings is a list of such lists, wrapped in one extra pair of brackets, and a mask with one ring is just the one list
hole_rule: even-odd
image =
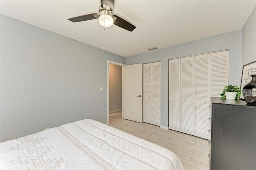
[(180, 131), (180, 58), (169, 60), (169, 128)]

